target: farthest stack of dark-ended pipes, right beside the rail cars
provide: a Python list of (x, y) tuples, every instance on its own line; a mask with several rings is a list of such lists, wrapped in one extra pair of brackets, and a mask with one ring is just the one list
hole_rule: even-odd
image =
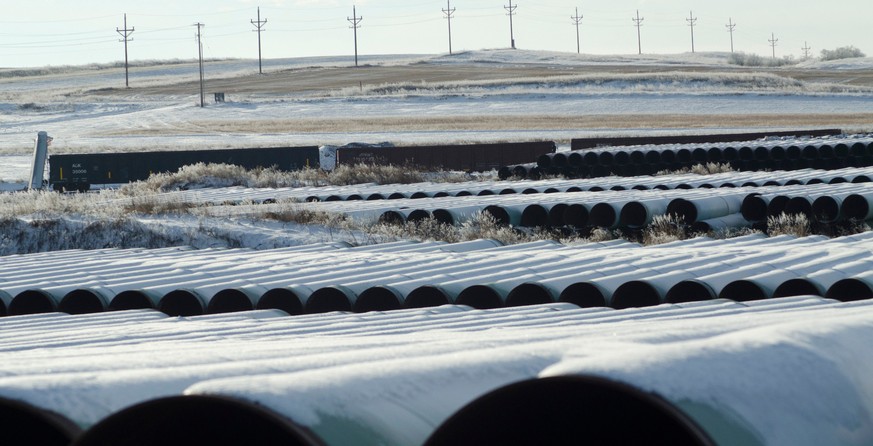
[(504, 166), (501, 178), (543, 175), (593, 178), (652, 175), (696, 164), (724, 163), (740, 171), (833, 170), (873, 165), (873, 138), (849, 135), (813, 139), (775, 139), (709, 146), (650, 145), (571, 150), (540, 156), (535, 163)]

